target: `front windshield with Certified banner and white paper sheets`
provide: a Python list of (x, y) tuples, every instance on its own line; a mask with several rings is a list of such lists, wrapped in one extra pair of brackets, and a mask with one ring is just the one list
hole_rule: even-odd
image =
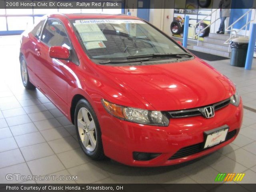
[(122, 60), (187, 53), (142, 20), (72, 20), (72, 23), (92, 59)]

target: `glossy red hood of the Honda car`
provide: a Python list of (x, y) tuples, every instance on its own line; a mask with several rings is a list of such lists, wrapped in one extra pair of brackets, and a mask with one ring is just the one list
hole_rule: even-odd
[(153, 65), (103, 66), (156, 110), (206, 106), (231, 97), (234, 84), (202, 60)]

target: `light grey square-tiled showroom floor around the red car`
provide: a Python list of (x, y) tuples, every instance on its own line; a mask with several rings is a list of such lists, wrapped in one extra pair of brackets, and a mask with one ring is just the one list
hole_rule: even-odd
[[(9, 173), (74, 175), (77, 183), (213, 183), (219, 172), (245, 173), (242, 182), (256, 183), (256, 113), (249, 110), (232, 144), (186, 164), (135, 168), (90, 160), (74, 126), (38, 90), (22, 86), (18, 43), (17, 36), (0, 37), (0, 183), (24, 182), (6, 180)], [(208, 63), (237, 84), (245, 106), (256, 109), (255, 59), (251, 71), (232, 67), (229, 60)]]

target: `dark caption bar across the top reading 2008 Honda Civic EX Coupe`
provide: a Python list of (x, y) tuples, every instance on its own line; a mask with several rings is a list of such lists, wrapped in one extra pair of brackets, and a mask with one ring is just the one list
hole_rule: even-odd
[[(238, 1), (238, 0), (237, 0)], [(220, 0), (0, 0), (0, 8), (6, 9), (215, 9)], [(230, 8), (248, 9), (256, 6), (256, 0), (231, 1)]]

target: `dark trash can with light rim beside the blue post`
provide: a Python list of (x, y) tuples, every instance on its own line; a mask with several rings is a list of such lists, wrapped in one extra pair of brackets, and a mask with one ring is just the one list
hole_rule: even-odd
[(244, 67), (248, 50), (249, 38), (238, 37), (231, 42), (231, 60), (230, 64), (236, 67)]

